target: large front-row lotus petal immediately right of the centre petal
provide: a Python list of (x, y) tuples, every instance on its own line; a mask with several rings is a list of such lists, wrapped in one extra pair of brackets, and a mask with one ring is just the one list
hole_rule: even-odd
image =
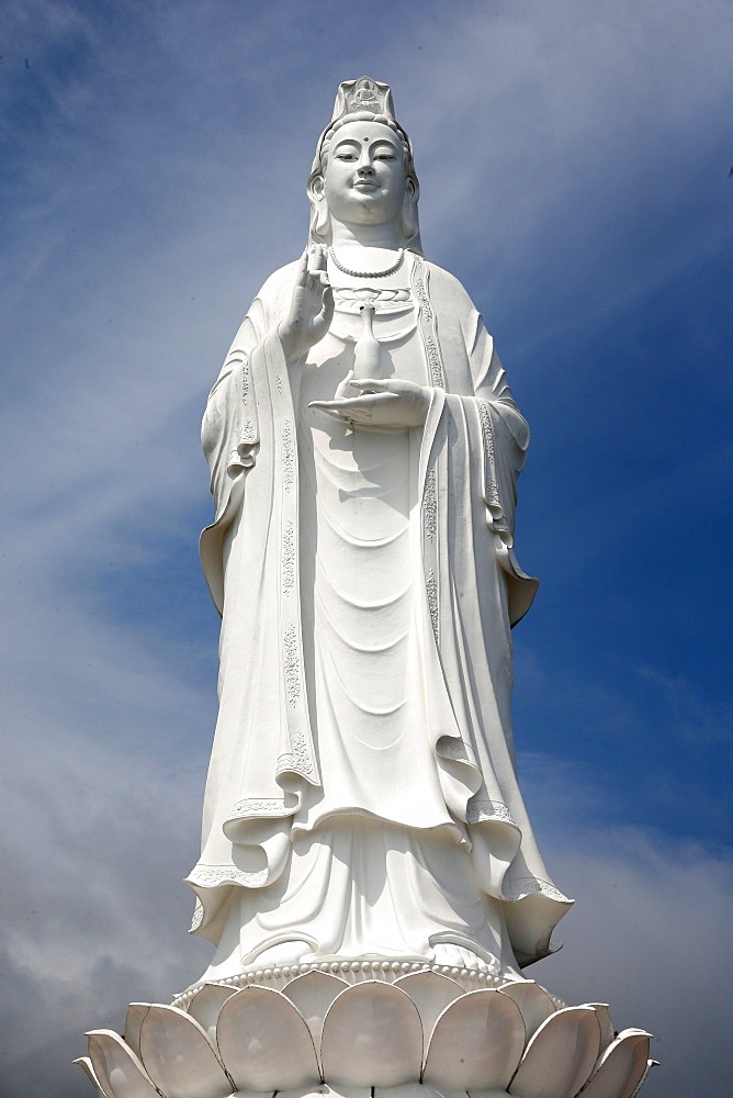
[(525, 1040), (516, 1002), (494, 988), (469, 991), (438, 1019), (422, 1079), (438, 1089), (506, 1090)]

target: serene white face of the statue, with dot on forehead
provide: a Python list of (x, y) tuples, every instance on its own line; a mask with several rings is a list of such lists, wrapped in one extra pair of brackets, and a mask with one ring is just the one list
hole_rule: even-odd
[(349, 122), (328, 153), (324, 193), (341, 224), (384, 225), (396, 221), (408, 182), (397, 134), (379, 122)]

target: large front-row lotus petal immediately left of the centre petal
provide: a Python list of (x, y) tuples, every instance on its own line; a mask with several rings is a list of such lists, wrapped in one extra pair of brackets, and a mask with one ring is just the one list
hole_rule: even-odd
[(244, 987), (226, 1000), (216, 1042), (237, 1090), (316, 1087), (320, 1069), (308, 1027), (282, 991)]

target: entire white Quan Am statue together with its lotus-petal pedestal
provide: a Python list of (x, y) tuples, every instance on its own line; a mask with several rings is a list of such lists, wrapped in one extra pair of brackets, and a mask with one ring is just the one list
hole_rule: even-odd
[(422, 257), (386, 85), (340, 86), (308, 198), (203, 424), (222, 666), (189, 882), (217, 950), (78, 1062), (102, 1098), (630, 1098), (650, 1034), (521, 975), (571, 904), (511, 742), (529, 433)]

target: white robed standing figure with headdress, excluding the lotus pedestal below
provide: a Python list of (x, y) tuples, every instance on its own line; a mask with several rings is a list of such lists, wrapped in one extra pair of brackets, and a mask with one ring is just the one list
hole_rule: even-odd
[(492, 337), (421, 254), (390, 89), (340, 86), (311, 243), (264, 283), (203, 424), (222, 614), (194, 930), (208, 981), (398, 959), (521, 978), (570, 900), (511, 738), (529, 439)]

